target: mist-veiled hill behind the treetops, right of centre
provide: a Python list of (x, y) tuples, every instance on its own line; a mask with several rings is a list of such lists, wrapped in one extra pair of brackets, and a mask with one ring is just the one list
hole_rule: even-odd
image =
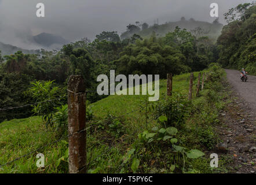
[[(217, 40), (218, 36), (221, 35), (221, 31), (223, 28), (223, 24), (218, 22), (215, 23), (208, 23), (205, 21), (195, 21), (193, 18), (190, 20), (185, 20), (182, 18), (180, 21), (176, 22), (168, 22), (165, 24), (154, 24), (150, 27), (143, 27), (139, 28), (138, 26), (131, 25), (131, 29), (127, 29), (126, 32), (123, 32), (121, 35), (121, 39), (130, 38), (133, 34), (138, 34), (142, 37), (148, 37), (152, 34), (153, 31), (156, 32), (158, 36), (164, 36), (168, 32), (174, 31), (175, 27), (180, 27), (181, 29), (185, 28), (187, 31), (192, 32), (195, 28), (202, 28), (204, 34), (202, 36), (209, 36), (209, 38)], [(137, 28), (136, 28), (137, 27)]]

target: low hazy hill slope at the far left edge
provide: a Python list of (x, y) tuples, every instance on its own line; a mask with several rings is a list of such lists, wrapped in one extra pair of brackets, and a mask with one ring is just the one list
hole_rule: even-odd
[(8, 56), (10, 54), (14, 54), (17, 51), (22, 51), (24, 54), (36, 54), (39, 53), (39, 50), (25, 50), (21, 49), (20, 47), (6, 45), (5, 43), (0, 42), (0, 50), (2, 56)]

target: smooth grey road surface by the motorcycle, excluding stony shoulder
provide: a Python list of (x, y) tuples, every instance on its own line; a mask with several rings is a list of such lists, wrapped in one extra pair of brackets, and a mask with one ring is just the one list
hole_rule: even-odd
[[(256, 76), (248, 75), (247, 82), (241, 82), (240, 72), (233, 69), (225, 69), (228, 82), (235, 88), (239, 96), (242, 97), (251, 113), (256, 116)], [(252, 115), (252, 116), (253, 116)]]

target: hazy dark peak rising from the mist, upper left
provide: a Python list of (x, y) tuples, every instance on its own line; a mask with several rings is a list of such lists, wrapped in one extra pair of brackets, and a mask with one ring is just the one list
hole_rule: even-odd
[(68, 40), (65, 40), (61, 36), (56, 36), (52, 34), (42, 33), (36, 36), (33, 36), (33, 39), (36, 44), (43, 47), (50, 47), (52, 45), (65, 45), (68, 43)]

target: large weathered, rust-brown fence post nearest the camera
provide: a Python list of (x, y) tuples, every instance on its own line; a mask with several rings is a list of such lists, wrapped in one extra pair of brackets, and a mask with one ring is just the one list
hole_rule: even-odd
[(68, 81), (69, 172), (86, 173), (85, 83), (81, 75)]

